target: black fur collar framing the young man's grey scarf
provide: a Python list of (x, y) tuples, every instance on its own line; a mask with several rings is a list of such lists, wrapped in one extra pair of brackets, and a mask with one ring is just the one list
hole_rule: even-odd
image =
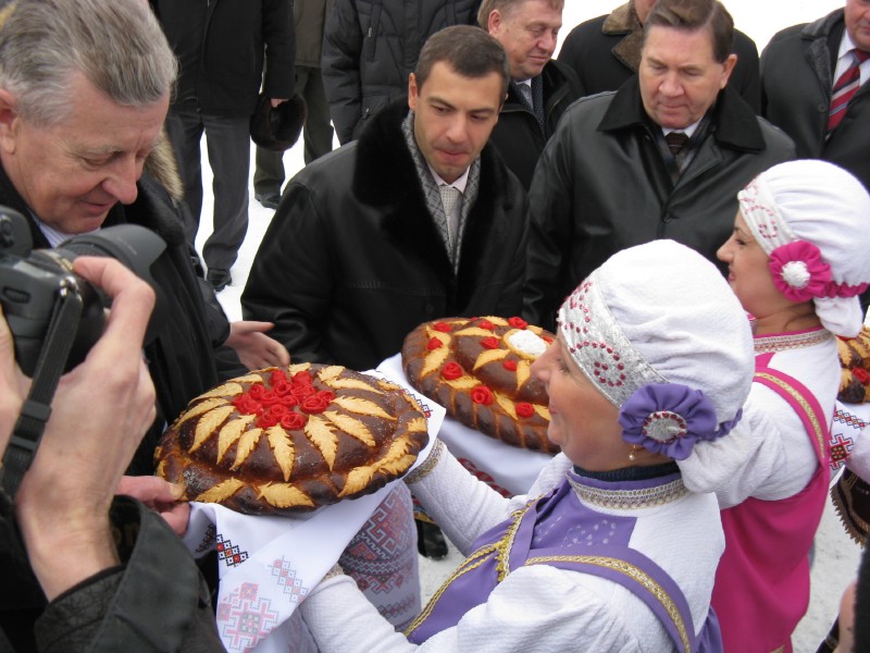
[[(423, 188), (401, 133), (401, 122), (408, 114), (407, 100), (398, 100), (378, 111), (363, 130), (357, 143), (352, 193), (357, 199), (377, 207), (381, 227), (386, 237), (407, 250), (439, 275), (452, 279), (452, 268), (438, 231), (426, 209)], [(474, 280), (485, 275), (486, 257), (498, 256), (488, 246), (501, 241), (508, 231), (506, 213), (514, 207), (513, 188), (505, 164), (492, 145), (481, 152), (481, 185), (469, 213), (462, 251), (459, 255), (459, 275), (455, 279), (460, 306), (462, 297), (473, 292)], [(436, 243), (437, 247), (433, 244)]]

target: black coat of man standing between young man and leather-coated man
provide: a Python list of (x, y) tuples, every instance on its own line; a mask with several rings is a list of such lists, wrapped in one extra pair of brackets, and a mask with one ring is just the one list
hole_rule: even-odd
[(540, 73), (544, 82), (544, 116), (546, 131), (542, 131), (534, 113), (508, 88), (508, 99), (498, 115), (489, 141), (498, 148), (505, 164), (529, 190), (540, 152), (552, 136), (559, 120), (569, 104), (580, 97), (573, 71), (552, 60)]

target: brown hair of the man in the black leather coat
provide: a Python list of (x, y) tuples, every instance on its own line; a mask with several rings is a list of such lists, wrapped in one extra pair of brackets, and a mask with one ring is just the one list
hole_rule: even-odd
[(734, 19), (718, 0), (658, 0), (644, 24), (644, 40), (652, 25), (684, 32), (708, 29), (713, 59), (719, 63), (723, 63), (733, 50)]

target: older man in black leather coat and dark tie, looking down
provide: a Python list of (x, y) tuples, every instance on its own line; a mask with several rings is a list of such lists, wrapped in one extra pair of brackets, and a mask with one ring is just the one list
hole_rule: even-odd
[(672, 238), (717, 261), (737, 192), (794, 157), (791, 139), (729, 87), (736, 57), (721, 3), (660, 0), (644, 36), (638, 76), (574, 102), (535, 172), (524, 301), (543, 326), (626, 247)]

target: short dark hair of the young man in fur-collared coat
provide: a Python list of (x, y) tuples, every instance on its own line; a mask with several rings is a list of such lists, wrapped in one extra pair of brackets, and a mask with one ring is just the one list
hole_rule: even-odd
[(508, 56), (501, 44), (480, 27), (453, 25), (428, 37), (414, 71), (419, 89), (423, 88), (432, 67), (440, 61), (463, 77), (478, 78), (498, 73), (501, 75), (501, 94), (508, 91)]

